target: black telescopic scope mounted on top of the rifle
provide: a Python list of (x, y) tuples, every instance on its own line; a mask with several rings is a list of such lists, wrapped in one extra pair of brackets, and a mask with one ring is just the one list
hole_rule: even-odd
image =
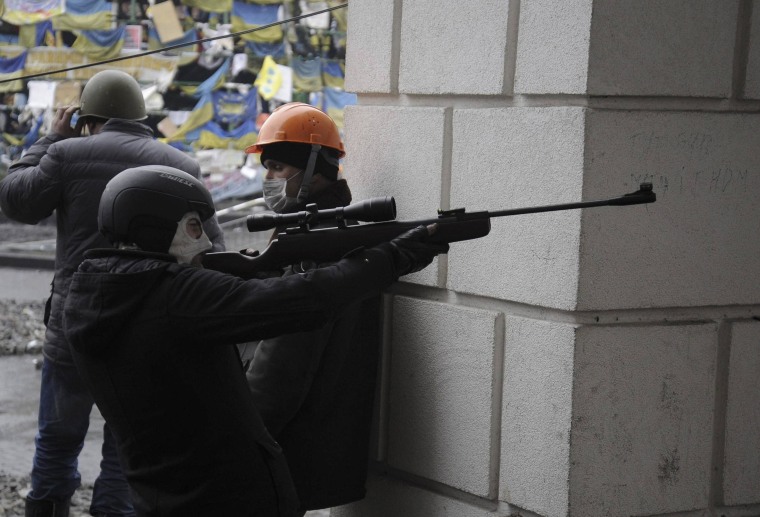
[(392, 221), (396, 218), (396, 200), (393, 196), (373, 197), (358, 203), (338, 208), (317, 210), (317, 205), (306, 205), (306, 210), (292, 214), (263, 213), (249, 215), (246, 225), (249, 232), (260, 232), (277, 226), (301, 226), (305, 227), (317, 221), (333, 219), (339, 224), (345, 224), (346, 220), (379, 223)]

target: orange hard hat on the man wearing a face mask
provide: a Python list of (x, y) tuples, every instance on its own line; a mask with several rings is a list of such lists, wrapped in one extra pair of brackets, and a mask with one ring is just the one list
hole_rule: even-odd
[(303, 102), (290, 102), (275, 109), (261, 125), (256, 143), (247, 147), (245, 152), (260, 153), (263, 146), (278, 142), (319, 144), (338, 151), (339, 158), (346, 155), (333, 119)]

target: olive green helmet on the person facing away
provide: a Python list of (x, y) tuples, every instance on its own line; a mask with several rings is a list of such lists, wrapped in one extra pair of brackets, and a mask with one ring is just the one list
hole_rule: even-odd
[(79, 98), (80, 117), (145, 120), (145, 99), (140, 84), (121, 70), (103, 70), (93, 75)]

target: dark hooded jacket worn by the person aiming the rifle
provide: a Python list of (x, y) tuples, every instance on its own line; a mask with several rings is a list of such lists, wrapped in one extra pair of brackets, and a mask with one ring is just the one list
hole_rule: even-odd
[(65, 329), (119, 444), (141, 515), (290, 516), (295, 492), (235, 343), (334, 320), (395, 280), (388, 245), (334, 266), (241, 280), (168, 255), (88, 253)]

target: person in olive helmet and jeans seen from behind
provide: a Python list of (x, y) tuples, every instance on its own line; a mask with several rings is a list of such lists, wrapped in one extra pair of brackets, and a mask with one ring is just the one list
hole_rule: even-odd
[[(72, 127), (77, 112), (79, 119)], [(109, 245), (98, 230), (98, 203), (106, 183), (119, 172), (141, 165), (170, 166), (200, 177), (199, 164), (157, 141), (141, 122), (146, 118), (142, 90), (133, 77), (118, 70), (98, 72), (85, 84), (80, 105), (59, 109), (50, 132), (11, 165), (0, 183), (0, 208), (7, 217), (36, 224), (55, 213), (58, 225), (27, 516), (68, 515), (71, 496), (80, 485), (77, 458), (93, 398), (64, 336), (63, 302), (84, 252)], [(87, 136), (83, 136), (85, 130)], [(224, 249), (215, 217), (204, 223), (204, 231), (214, 251)], [(108, 424), (102, 451), (90, 513), (135, 515)]]

